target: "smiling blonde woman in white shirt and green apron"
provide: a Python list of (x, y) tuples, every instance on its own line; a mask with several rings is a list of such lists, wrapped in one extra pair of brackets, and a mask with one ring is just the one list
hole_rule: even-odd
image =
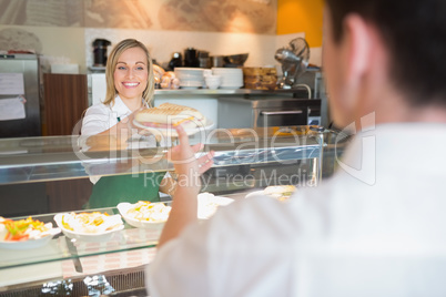
[[(88, 145), (111, 151), (125, 148), (126, 140), (133, 136), (134, 127), (131, 123), (135, 112), (152, 106), (152, 69), (149, 51), (140, 41), (126, 39), (113, 48), (105, 68), (105, 100), (89, 107), (82, 122), (82, 135), (90, 135)], [(156, 145), (153, 135), (144, 142), (149, 146)], [(88, 208), (116, 206), (120, 202), (134, 203), (141, 199), (158, 202), (160, 191), (169, 193), (173, 188), (173, 181), (169, 175), (165, 176), (165, 172), (140, 173), (138, 176), (91, 176), (90, 180), (94, 186)]]

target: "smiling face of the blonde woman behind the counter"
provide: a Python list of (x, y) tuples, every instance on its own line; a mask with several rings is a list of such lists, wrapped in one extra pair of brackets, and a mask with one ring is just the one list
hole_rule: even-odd
[(122, 52), (114, 69), (114, 88), (120, 98), (141, 100), (148, 86), (148, 57), (140, 48), (131, 48)]

